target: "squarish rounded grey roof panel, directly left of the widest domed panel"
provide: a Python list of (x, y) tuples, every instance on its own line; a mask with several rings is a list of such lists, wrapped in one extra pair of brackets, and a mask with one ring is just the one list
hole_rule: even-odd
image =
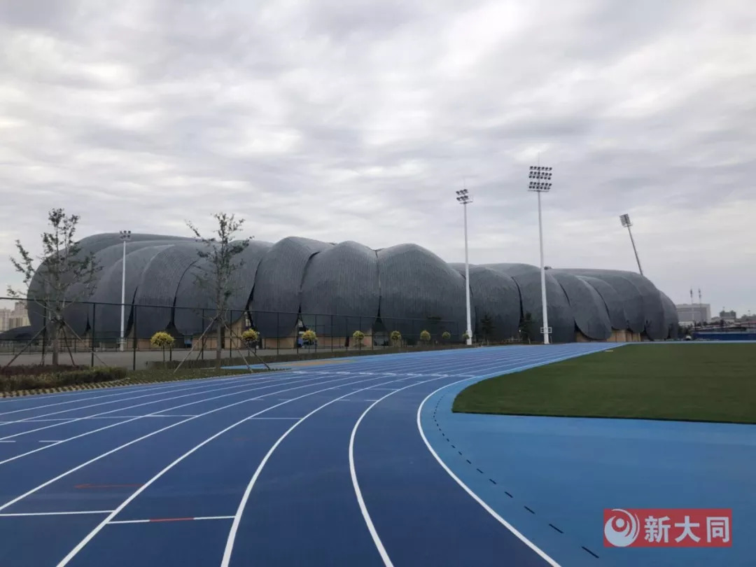
[(327, 336), (370, 333), (379, 305), (378, 257), (367, 246), (342, 242), (307, 265), (302, 280), (305, 327)]

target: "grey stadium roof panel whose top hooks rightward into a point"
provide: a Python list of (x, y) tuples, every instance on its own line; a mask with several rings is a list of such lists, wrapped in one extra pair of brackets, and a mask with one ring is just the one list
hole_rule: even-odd
[(260, 262), (250, 311), (256, 329), (267, 337), (289, 336), (299, 319), (302, 278), (312, 256), (331, 244), (310, 238), (279, 240)]

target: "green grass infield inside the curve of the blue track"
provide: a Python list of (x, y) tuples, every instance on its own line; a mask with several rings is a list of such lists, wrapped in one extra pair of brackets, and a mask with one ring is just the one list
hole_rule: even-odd
[(483, 380), (452, 411), (756, 423), (756, 345), (627, 345)]

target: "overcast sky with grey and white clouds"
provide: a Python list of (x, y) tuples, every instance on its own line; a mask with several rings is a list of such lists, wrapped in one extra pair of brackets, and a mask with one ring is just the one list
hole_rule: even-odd
[(756, 312), (752, 0), (0, 2), (0, 287), (79, 236), (414, 242)]

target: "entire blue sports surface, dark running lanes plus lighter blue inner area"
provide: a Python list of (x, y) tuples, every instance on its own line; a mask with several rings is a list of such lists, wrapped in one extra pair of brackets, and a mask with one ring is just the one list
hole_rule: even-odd
[[(737, 467), (753, 469), (753, 444), (742, 440), (748, 430), (711, 429), (705, 455), (719, 463), (712, 466), (694, 458), (704, 429), (656, 435), (648, 424), (645, 435), (657, 444), (648, 456), (659, 462), (646, 463), (649, 472), (634, 484), (627, 477), (643, 463), (626, 462), (637, 454), (618, 460), (637, 433), (623, 426), (563, 428), (549, 418), (449, 411), (454, 392), (485, 376), (617, 347), (339, 358), (271, 374), (2, 400), (0, 565), (630, 565), (627, 553), (601, 547), (604, 507), (729, 507), (739, 496), (732, 507), (743, 523), (733, 537), (746, 541), (740, 530), (751, 520), (742, 507), (753, 502), (739, 491), (753, 485)], [(660, 439), (677, 452), (658, 448)], [(730, 488), (708, 499), (701, 491), (674, 497), (670, 474), (640, 498), (637, 485), (660, 463), (688, 467), (679, 486), (735, 468), (720, 479)], [(578, 482), (581, 470), (592, 485)], [(492, 488), (511, 486), (535, 516), (502, 503), (476, 475)], [(662, 492), (667, 497), (655, 500)], [(554, 522), (569, 527), (561, 541), (541, 522), (553, 509), (562, 510)], [(745, 565), (733, 556), (709, 557)]]

